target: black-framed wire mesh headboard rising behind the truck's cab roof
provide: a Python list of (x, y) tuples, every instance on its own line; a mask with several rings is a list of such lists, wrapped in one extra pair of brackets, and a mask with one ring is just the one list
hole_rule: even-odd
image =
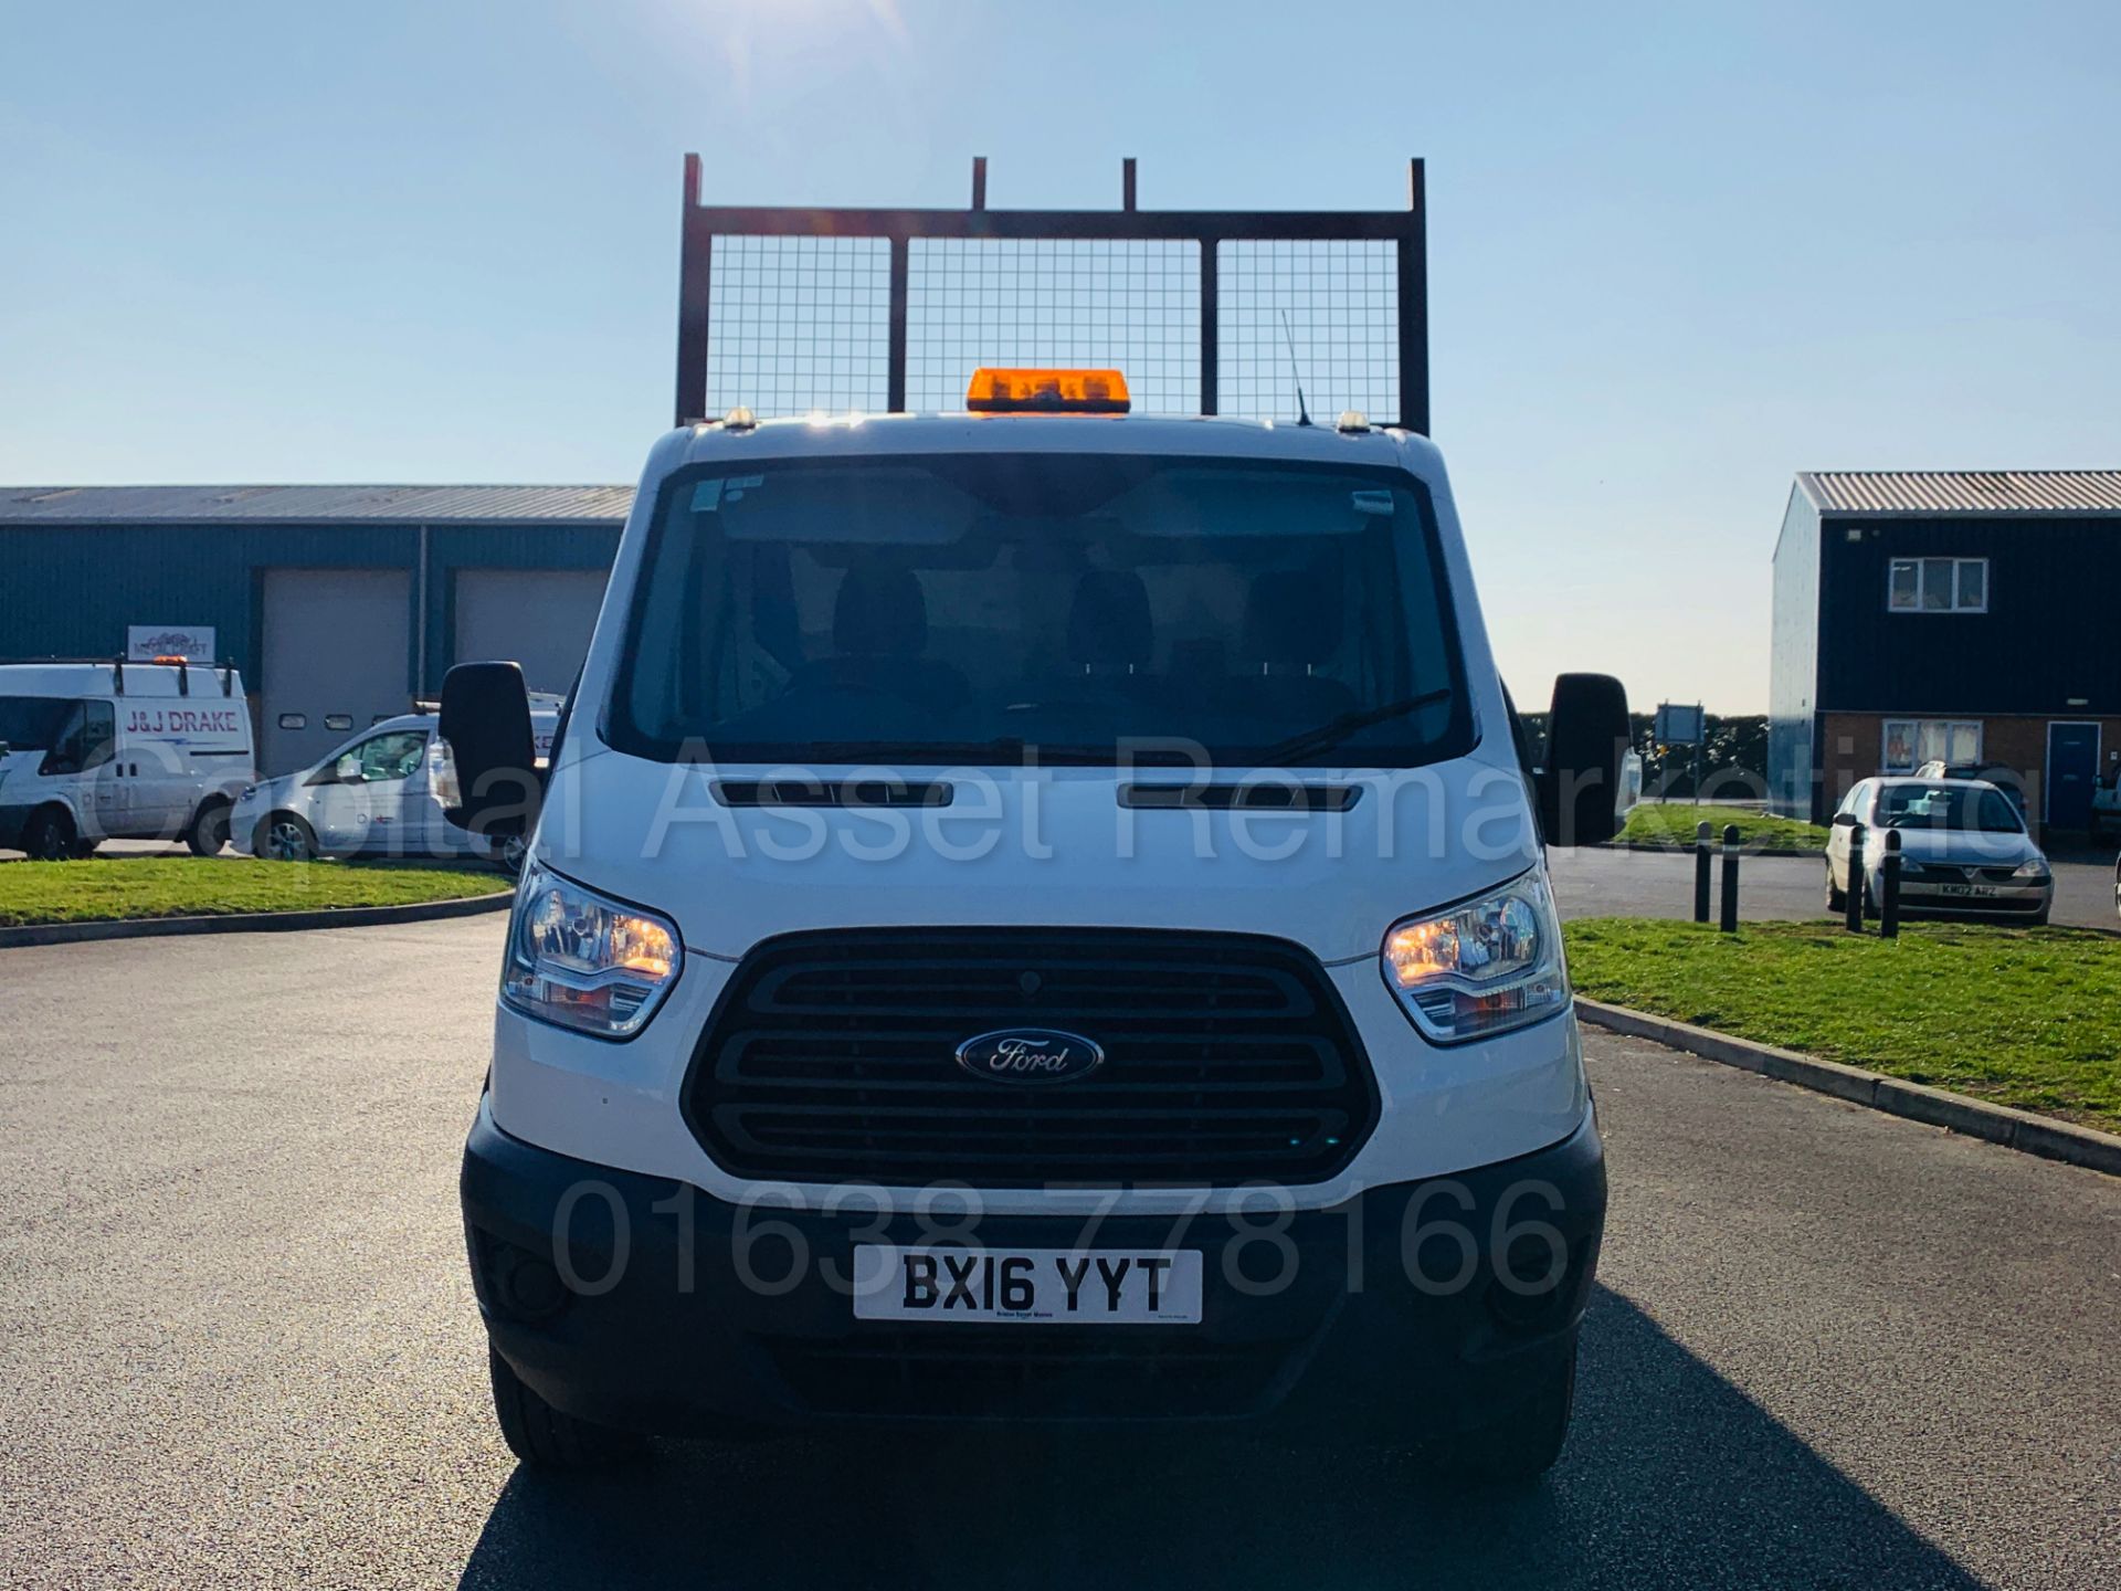
[(1421, 161), (1406, 210), (700, 204), (685, 157), (677, 422), (959, 409), (982, 365), (1114, 367), (1143, 414), (1430, 429)]

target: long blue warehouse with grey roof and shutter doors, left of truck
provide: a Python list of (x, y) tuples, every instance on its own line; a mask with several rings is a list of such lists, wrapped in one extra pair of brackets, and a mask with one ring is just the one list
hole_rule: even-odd
[(630, 505), (630, 486), (8, 486), (0, 655), (210, 630), (244, 672), (261, 772), (288, 772), (458, 660), (513, 658), (564, 692)]

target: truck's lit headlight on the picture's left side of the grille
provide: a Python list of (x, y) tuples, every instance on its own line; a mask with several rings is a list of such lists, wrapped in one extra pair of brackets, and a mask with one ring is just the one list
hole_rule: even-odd
[(670, 993), (681, 955), (668, 919), (532, 863), (515, 891), (501, 999), (541, 1022), (624, 1039)]

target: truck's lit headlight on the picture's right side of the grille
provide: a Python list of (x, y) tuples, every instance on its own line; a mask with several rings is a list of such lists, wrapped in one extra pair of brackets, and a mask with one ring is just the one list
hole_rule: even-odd
[(1538, 872), (1385, 933), (1385, 982), (1438, 1044), (1502, 1033), (1570, 1003), (1561, 921)]

